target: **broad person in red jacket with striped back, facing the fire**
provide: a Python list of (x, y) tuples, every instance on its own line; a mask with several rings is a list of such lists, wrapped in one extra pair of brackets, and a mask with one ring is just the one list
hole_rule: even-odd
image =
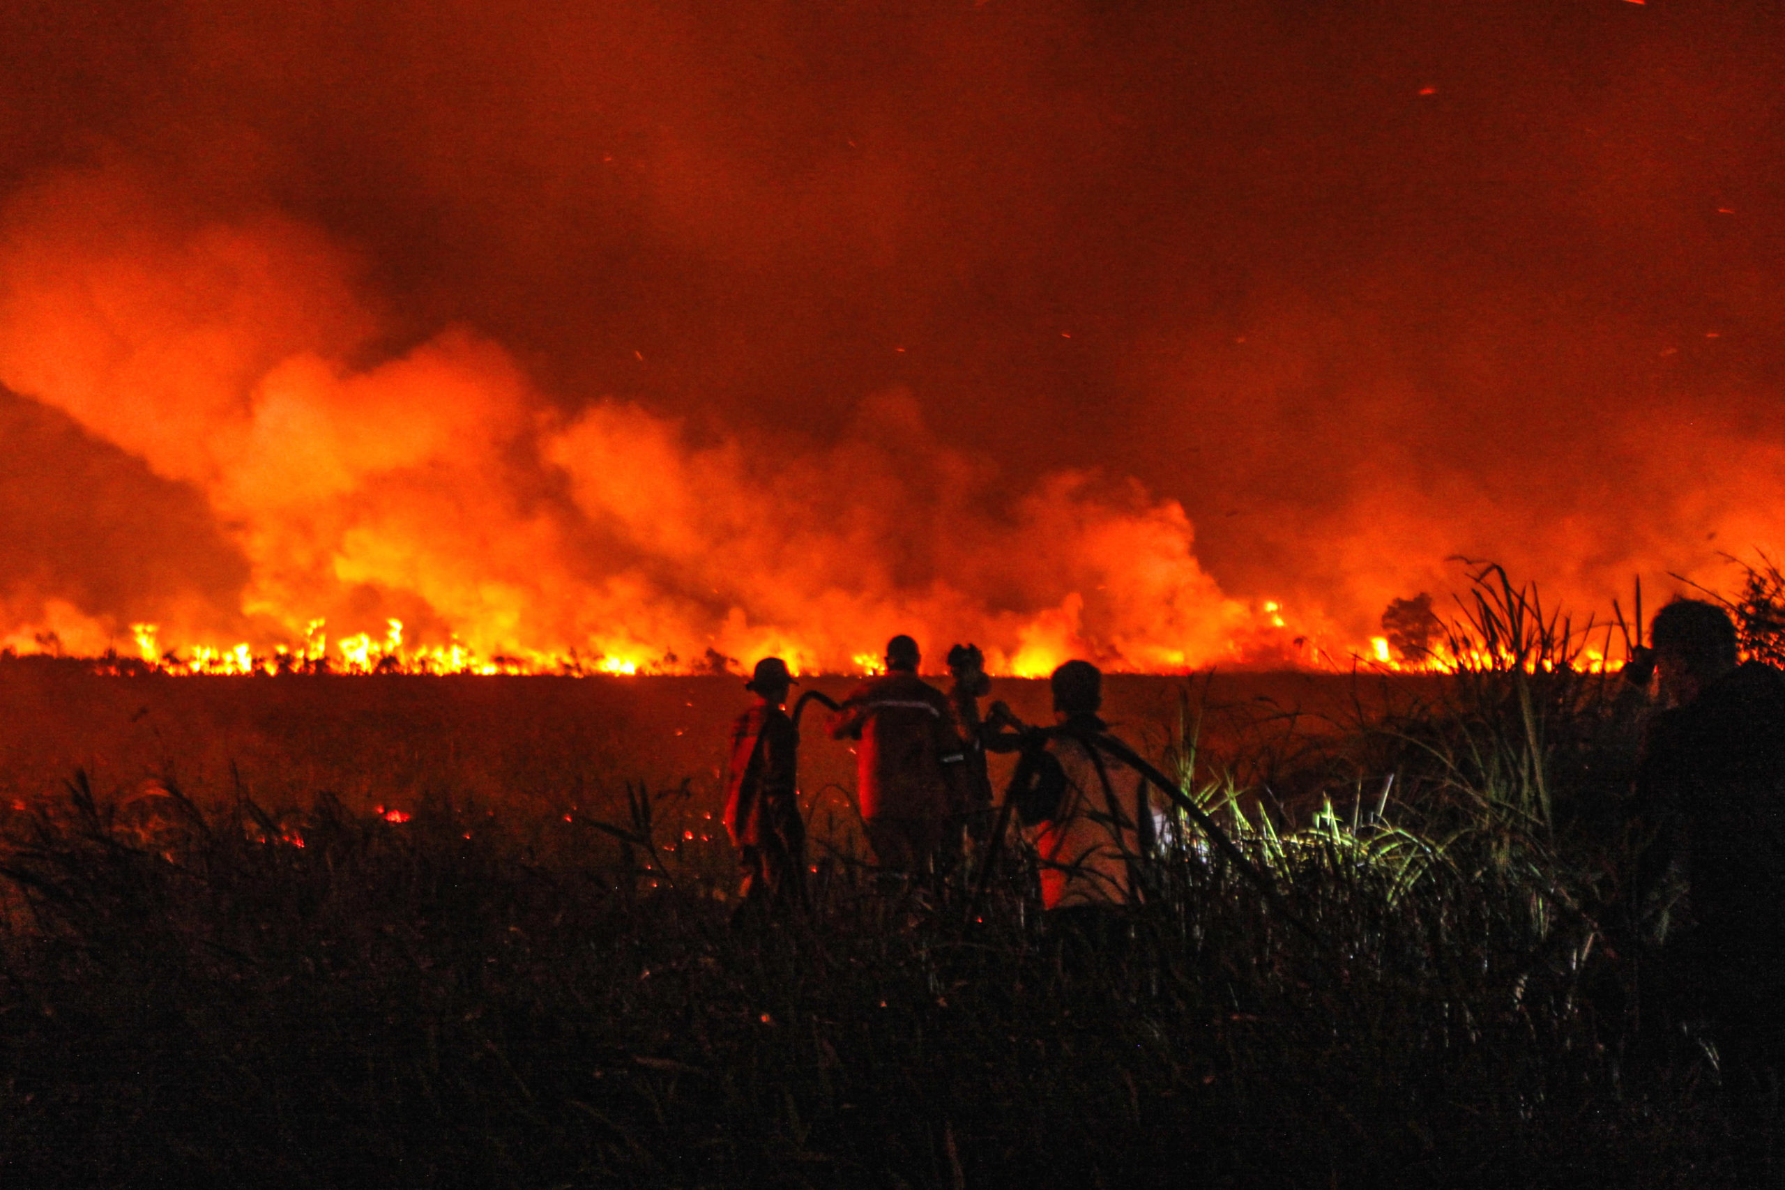
[(882, 676), (843, 699), (830, 739), (859, 740), (855, 796), (875, 858), (921, 872), (959, 858), (967, 755), (948, 698), (917, 676), (917, 642), (892, 637), (885, 660)]

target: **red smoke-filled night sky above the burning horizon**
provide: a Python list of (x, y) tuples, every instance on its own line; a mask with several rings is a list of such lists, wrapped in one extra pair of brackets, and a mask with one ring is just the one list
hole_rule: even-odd
[(1717, 582), (1776, 20), (14, 5), (0, 628), (1169, 671)]

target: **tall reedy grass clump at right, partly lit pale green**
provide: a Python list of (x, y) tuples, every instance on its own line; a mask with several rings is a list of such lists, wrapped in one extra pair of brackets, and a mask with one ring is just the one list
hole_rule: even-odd
[[(1474, 569), (1457, 605), (1440, 680), (1298, 749), (1316, 789), (1299, 806), (1198, 773), (1189, 699), (1171, 760), (1308, 921), (1378, 963), (1382, 987), (1473, 999), (1469, 1021), (1498, 1006), (1562, 1053), (1587, 1045), (1624, 1095), (1644, 938), (1626, 903), (1623, 815), (1644, 694), (1605, 664), (1614, 624), (1548, 610), (1498, 566)], [(1626, 655), (1640, 642), (1621, 614), (1615, 632)]]

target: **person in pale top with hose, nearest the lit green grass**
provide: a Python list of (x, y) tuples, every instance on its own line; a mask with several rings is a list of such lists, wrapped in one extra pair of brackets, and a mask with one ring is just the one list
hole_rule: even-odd
[(998, 717), (1023, 742), (1010, 801), (1041, 867), (1041, 905), (1062, 944), (1103, 951), (1119, 933), (1114, 910), (1141, 901), (1139, 864), (1155, 826), (1150, 780), (1098, 740), (1108, 739), (1103, 674), (1091, 662), (1066, 662), (1050, 678), (1057, 726), (1021, 728)]

